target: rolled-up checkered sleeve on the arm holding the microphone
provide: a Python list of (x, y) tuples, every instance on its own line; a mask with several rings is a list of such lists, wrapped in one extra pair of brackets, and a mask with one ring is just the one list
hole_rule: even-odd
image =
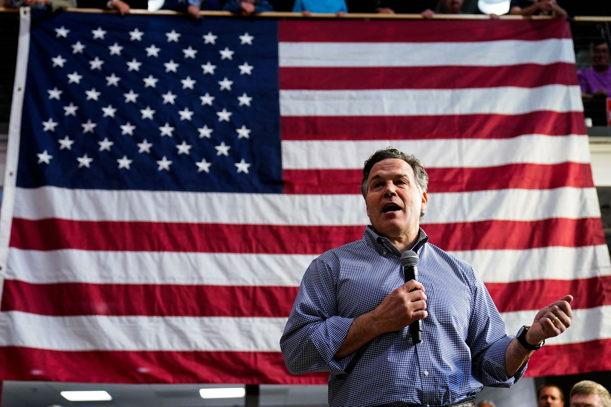
[(287, 369), (294, 375), (308, 372), (345, 374), (353, 355), (334, 356), (353, 323), (336, 315), (335, 282), (328, 265), (316, 259), (306, 270), (280, 338)]

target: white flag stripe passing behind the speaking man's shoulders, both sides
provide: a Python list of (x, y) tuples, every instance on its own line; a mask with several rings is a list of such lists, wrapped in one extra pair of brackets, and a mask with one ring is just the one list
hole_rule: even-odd
[[(605, 245), (455, 251), (485, 283), (611, 275)], [(159, 253), (10, 248), (6, 278), (35, 284), (186, 284), (296, 287), (318, 254)], [(49, 271), (49, 264), (54, 265)], [(134, 273), (134, 270), (146, 270)]]

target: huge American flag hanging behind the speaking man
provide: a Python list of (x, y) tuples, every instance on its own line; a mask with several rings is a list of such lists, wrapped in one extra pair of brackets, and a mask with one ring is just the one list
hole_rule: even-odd
[(527, 374), (611, 369), (566, 21), (21, 15), (5, 380), (324, 383), (278, 340), (309, 262), (360, 238), (360, 168), (388, 145), (428, 168), (423, 228), (510, 333), (576, 297)]

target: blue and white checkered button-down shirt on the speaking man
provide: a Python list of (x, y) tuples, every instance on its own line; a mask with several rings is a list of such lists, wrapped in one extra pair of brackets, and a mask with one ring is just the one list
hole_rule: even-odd
[(505, 373), (513, 336), (471, 265), (425, 239), (420, 229), (418, 279), (428, 311), (422, 344), (414, 345), (406, 327), (333, 358), (354, 318), (404, 283), (400, 251), (370, 226), (361, 240), (326, 251), (305, 271), (280, 347), (294, 375), (331, 372), (331, 407), (443, 405), (483, 386), (509, 387), (524, 374), (526, 364)]

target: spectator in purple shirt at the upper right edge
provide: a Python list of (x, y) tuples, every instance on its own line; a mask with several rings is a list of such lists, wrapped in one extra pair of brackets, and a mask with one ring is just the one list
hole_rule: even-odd
[(606, 99), (611, 96), (611, 67), (609, 44), (601, 41), (591, 47), (592, 66), (577, 71), (584, 115), (595, 126), (607, 125)]

